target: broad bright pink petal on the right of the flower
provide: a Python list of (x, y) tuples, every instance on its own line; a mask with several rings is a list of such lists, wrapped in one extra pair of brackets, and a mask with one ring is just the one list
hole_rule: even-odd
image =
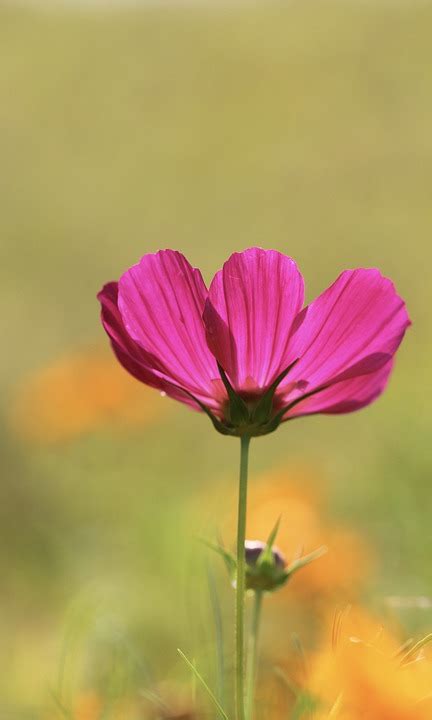
[(287, 382), (301, 381), (310, 392), (375, 372), (394, 355), (409, 325), (390, 280), (374, 269), (346, 270), (296, 319), (290, 349), (300, 360)]

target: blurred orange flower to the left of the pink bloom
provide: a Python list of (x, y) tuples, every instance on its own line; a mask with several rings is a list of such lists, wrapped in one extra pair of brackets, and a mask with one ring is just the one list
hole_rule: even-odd
[(28, 377), (13, 400), (10, 421), (19, 435), (51, 443), (112, 422), (152, 422), (165, 407), (154, 390), (138, 387), (108, 351), (89, 348)]

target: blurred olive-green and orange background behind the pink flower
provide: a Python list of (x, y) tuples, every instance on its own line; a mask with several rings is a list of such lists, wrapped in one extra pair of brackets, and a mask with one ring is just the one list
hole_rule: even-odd
[(249, 535), (329, 546), (269, 599), (266, 667), (347, 602), (432, 629), (431, 33), (417, 0), (0, 2), (2, 717), (180, 716), (176, 648), (220, 682), (218, 619), (230, 675), (199, 538), (233, 545), (237, 442), (116, 366), (95, 299), (163, 247), (207, 280), (276, 248), (308, 300), (394, 279), (388, 392), (253, 443)]

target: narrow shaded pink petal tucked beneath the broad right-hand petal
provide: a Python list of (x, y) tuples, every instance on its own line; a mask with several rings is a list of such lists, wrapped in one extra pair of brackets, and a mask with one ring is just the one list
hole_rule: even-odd
[(360, 410), (376, 400), (385, 390), (392, 369), (393, 360), (389, 360), (373, 373), (360, 375), (350, 380), (342, 380), (331, 385), (326, 390), (299, 402), (286, 414), (284, 419), (289, 420), (314, 413), (330, 415)]

